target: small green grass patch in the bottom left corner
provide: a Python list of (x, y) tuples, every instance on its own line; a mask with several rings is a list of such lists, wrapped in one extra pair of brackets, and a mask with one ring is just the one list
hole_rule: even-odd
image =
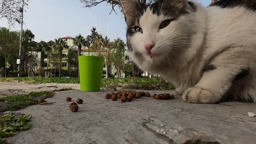
[(30, 128), (31, 115), (14, 116), (5, 114), (0, 117), (0, 144), (6, 143), (6, 138), (17, 134), (20, 130)]

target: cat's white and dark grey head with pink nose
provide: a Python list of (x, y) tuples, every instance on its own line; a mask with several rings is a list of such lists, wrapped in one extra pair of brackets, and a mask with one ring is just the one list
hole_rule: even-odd
[(158, 0), (150, 5), (138, 0), (121, 0), (121, 3), (128, 26), (128, 53), (136, 64), (158, 65), (182, 58), (195, 33), (194, 3), (188, 0)]

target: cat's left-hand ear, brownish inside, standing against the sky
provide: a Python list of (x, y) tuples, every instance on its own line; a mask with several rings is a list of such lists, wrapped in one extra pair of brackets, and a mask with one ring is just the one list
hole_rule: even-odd
[(121, 0), (122, 13), (127, 24), (130, 24), (136, 16), (136, 12), (140, 10), (138, 0)]

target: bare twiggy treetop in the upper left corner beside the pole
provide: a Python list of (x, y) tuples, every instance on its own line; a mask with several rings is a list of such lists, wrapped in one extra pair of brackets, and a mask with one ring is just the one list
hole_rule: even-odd
[[(9, 26), (21, 23), (23, 0), (0, 0), (0, 20), (6, 19)], [(24, 6), (28, 7), (28, 0), (24, 0)]]

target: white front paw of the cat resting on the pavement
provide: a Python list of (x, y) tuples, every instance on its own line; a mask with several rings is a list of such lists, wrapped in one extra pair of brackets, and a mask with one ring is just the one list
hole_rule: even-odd
[(209, 90), (205, 90), (200, 87), (188, 88), (182, 98), (186, 102), (196, 104), (214, 104), (216, 103), (216, 97)]

